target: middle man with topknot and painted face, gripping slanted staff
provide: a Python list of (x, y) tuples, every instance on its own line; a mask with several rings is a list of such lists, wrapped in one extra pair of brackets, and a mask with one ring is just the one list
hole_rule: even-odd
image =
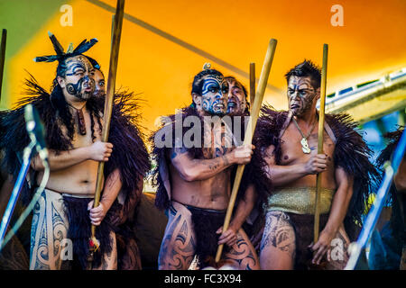
[[(165, 209), (169, 219), (161, 242), (159, 269), (188, 269), (195, 256), (199, 268), (212, 266), (219, 244), (226, 244), (224, 263), (236, 269), (259, 268), (244, 230), (235, 230), (239, 224), (232, 220), (230, 228), (222, 231), (231, 193), (231, 167), (248, 163), (253, 153), (251, 145), (235, 148), (225, 144), (230, 135), (220, 123), (226, 115), (227, 92), (224, 76), (215, 69), (204, 69), (194, 77), (193, 103), (181, 114), (168, 117), (167, 124), (152, 135), (152, 154), (157, 163), (154, 179), (158, 185), (155, 205)], [(171, 138), (169, 146), (161, 148), (158, 141), (162, 133), (169, 138), (177, 134), (178, 121), (192, 119), (202, 128), (195, 137), (211, 139), (209, 145), (194, 142), (191, 147), (185, 143), (180, 147), (176, 146), (177, 139)], [(208, 119), (214, 128), (206, 124)], [(185, 139), (187, 131), (182, 127), (180, 133)]]

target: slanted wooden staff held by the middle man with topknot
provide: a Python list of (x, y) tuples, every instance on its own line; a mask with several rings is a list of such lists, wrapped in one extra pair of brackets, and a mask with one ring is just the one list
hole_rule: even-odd
[[(266, 51), (265, 60), (263, 61), (263, 70), (261, 71), (261, 76), (258, 83), (258, 89), (255, 94), (254, 105), (251, 109), (251, 117), (248, 121), (247, 130), (245, 132), (245, 139), (243, 145), (251, 144), (254, 136), (254, 130), (256, 126), (256, 121), (258, 120), (259, 112), (261, 110), (261, 104), (263, 103), (263, 94), (265, 93), (266, 84), (268, 83), (269, 72), (271, 71), (273, 55), (275, 54), (277, 40), (271, 39), (268, 44), (268, 49)], [(243, 177), (245, 165), (238, 165), (236, 174), (235, 174), (235, 181), (233, 185), (233, 190), (230, 196), (230, 202), (228, 202), (228, 207), (226, 211), (226, 219), (224, 220), (223, 231), (228, 229), (228, 225), (230, 224), (231, 214), (233, 212), (236, 194), (238, 192), (238, 188), (240, 187), (241, 178)], [(220, 261), (221, 253), (223, 252), (223, 244), (218, 246), (217, 248), (217, 255), (216, 255), (216, 263)]]

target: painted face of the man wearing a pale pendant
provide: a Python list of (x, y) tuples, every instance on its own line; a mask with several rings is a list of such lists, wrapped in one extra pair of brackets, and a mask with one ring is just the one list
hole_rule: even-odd
[(288, 83), (289, 109), (295, 116), (300, 116), (308, 111), (318, 91), (311, 85), (309, 76), (291, 76)]

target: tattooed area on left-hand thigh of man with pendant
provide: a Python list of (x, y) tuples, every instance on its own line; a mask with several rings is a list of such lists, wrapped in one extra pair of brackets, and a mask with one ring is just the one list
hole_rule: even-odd
[(261, 253), (273, 247), (280, 252), (287, 253), (292, 259), (295, 257), (295, 231), (291, 226), (289, 216), (281, 211), (269, 211), (266, 214), (265, 228), (261, 240)]

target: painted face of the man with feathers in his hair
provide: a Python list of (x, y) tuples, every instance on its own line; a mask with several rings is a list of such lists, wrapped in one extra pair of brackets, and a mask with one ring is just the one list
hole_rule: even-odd
[(63, 90), (80, 100), (88, 100), (95, 91), (95, 68), (88, 58), (78, 55), (66, 59)]

